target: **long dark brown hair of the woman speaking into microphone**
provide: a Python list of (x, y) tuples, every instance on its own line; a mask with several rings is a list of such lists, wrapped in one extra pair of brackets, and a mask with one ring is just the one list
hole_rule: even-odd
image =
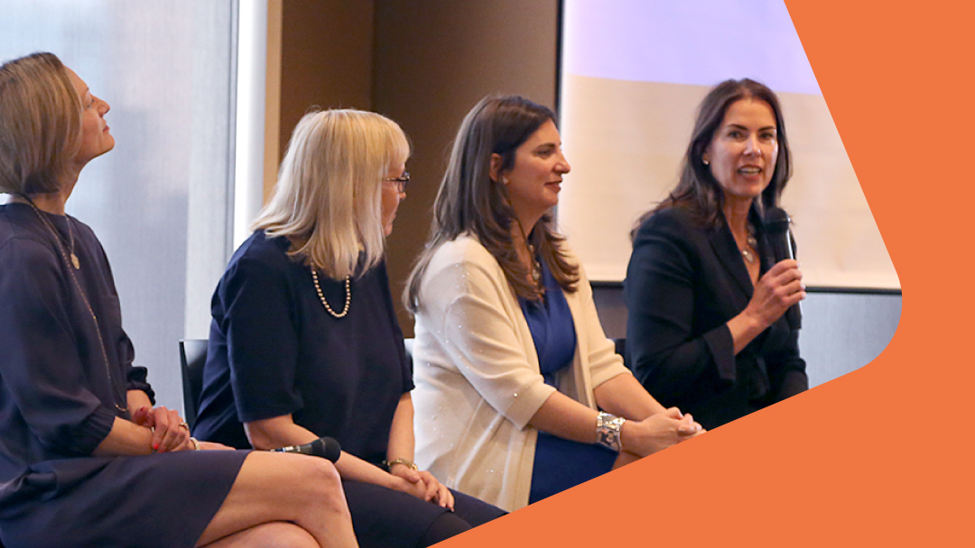
[(753, 209), (762, 213), (765, 209), (777, 207), (782, 191), (792, 176), (792, 155), (789, 152), (789, 139), (786, 137), (785, 121), (782, 119), (782, 107), (775, 92), (765, 85), (743, 78), (741, 80), (725, 80), (708, 92), (701, 106), (698, 107), (697, 121), (691, 133), (690, 144), (684, 154), (681, 165), (681, 179), (670, 195), (657, 204), (656, 207), (643, 213), (630, 237), (635, 237), (640, 226), (653, 213), (668, 207), (685, 207), (704, 227), (717, 227), (722, 219), (724, 207), (724, 191), (721, 184), (711, 173), (711, 169), (704, 164), (704, 152), (715, 137), (715, 132), (722, 125), (724, 114), (728, 107), (740, 99), (754, 98), (768, 104), (775, 116), (776, 139), (779, 142), (778, 160), (772, 172), (772, 180), (761, 192), (761, 199), (755, 201)]

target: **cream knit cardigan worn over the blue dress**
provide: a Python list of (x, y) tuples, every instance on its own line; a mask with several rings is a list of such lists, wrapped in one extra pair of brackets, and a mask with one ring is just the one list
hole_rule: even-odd
[[(565, 294), (575, 357), (556, 381), (596, 409), (594, 388), (630, 372), (604, 335), (581, 267), (579, 274), (578, 290)], [(515, 292), (480, 242), (458, 237), (434, 253), (420, 296), (412, 351), (416, 462), (461, 493), (522, 508), (537, 438), (528, 421), (555, 388), (539, 372)]]

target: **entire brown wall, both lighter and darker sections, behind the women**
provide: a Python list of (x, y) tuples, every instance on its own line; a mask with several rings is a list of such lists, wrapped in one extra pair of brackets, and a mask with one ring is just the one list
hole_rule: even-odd
[[(282, 39), (281, 150), (312, 104), (367, 108), (413, 143), (409, 196), (389, 238), (394, 296), (430, 226), (448, 146), (488, 93), (555, 105), (558, 0), (287, 0)], [(399, 310), (404, 334), (409, 314)]]

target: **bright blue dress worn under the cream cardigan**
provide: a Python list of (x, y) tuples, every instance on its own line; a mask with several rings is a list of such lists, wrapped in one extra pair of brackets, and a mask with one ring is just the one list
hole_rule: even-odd
[[(575, 356), (575, 323), (562, 287), (542, 263), (545, 298), (540, 302), (519, 298), (538, 365), (545, 384), (555, 384), (556, 372), (568, 367)], [(594, 425), (595, 427), (595, 425)], [(603, 475), (612, 468), (616, 453), (604, 447), (581, 444), (538, 432), (531, 471), (528, 504), (547, 498)]]

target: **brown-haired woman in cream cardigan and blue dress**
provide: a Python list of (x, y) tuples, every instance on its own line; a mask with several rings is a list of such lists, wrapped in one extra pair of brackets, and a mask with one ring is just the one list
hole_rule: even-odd
[(513, 511), (699, 434), (623, 366), (551, 209), (555, 115), (489, 96), (464, 119), (410, 274), (417, 463)]

